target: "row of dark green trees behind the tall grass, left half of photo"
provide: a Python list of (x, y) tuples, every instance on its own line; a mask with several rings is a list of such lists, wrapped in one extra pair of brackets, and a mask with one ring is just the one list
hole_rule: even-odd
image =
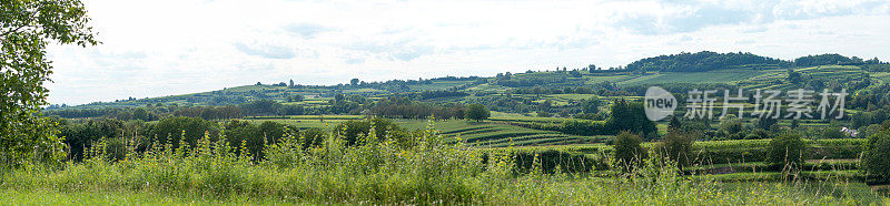
[[(284, 136), (299, 136), (304, 148), (319, 146), (328, 135), (322, 128), (300, 130), (291, 125), (265, 121), (208, 121), (200, 117), (170, 116), (156, 123), (138, 120), (120, 121), (115, 119), (66, 120), (55, 119), (59, 123), (59, 136), (63, 136), (68, 158), (82, 161), (86, 150), (99, 142), (107, 144), (106, 153), (112, 159), (123, 159), (125, 150), (132, 147), (135, 152), (145, 152), (151, 147), (189, 147), (198, 144), (205, 136), (216, 142), (225, 135), (225, 141), (234, 147), (244, 147), (255, 161), (265, 157), (266, 146)], [(363, 136), (369, 136), (370, 126), (376, 131), (377, 140), (394, 138), (398, 142), (411, 142), (412, 132), (398, 127), (386, 119), (373, 117), (355, 120), (337, 124), (335, 130), (347, 145), (362, 144)], [(125, 144), (131, 145), (125, 145)], [(246, 154), (247, 155), (247, 154)]]

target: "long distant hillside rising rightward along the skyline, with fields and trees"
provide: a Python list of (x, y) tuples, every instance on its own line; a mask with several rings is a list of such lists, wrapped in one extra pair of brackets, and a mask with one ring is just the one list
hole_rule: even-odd
[[(802, 70), (818, 65), (842, 65), (828, 70)], [(832, 85), (829, 79), (843, 83), (863, 80), (866, 72), (872, 78), (890, 80), (890, 66), (878, 59), (862, 61), (839, 54), (820, 54), (798, 58), (794, 61), (779, 60), (751, 53), (716, 53), (702, 51), (660, 55), (634, 61), (621, 69), (596, 70), (590, 68), (557, 69), (556, 71), (527, 71), (525, 73), (501, 73), (491, 78), (437, 78), (419, 80), (390, 80), (352, 84), (299, 85), (287, 83), (260, 83), (227, 87), (218, 91), (170, 95), (148, 99), (125, 99), (115, 102), (95, 102), (78, 106), (51, 105), (47, 110), (108, 109), (158, 105), (233, 105), (256, 100), (274, 100), (281, 103), (299, 102), (305, 106), (329, 104), (336, 94), (368, 97), (407, 96), (418, 101), (486, 102), (492, 94), (596, 94), (629, 95), (641, 86), (651, 84), (712, 84), (711, 86), (742, 86), (746, 89), (822, 87)], [(784, 82), (787, 70), (802, 70), (803, 80), (797, 84)], [(645, 72), (643, 72), (645, 71)], [(652, 73), (657, 72), (657, 73)], [(825, 73), (837, 75), (825, 75)], [(867, 75), (866, 75), (867, 76)], [(868, 78), (866, 78), (868, 79)], [(834, 83), (837, 84), (837, 83)], [(299, 101), (294, 101), (299, 97)], [(500, 99), (498, 105), (514, 106), (515, 100)], [(495, 105), (496, 106), (496, 105)]]

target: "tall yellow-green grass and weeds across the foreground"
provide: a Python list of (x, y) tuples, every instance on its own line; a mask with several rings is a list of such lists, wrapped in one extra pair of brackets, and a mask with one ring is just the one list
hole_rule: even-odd
[(251, 159), (244, 145), (228, 145), (225, 135), (205, 135), (196, 145), (154, 143), (147, 152), (128, 142), (125, 157), (115, 161), (106, 153), (110, 141), (103, 140), (83, 163), (2, 174), (0, 190), (372, 204), (866, 204), (879, 198), (813, 195), (783, 184), (728, 189), (655, 161), (606, 177), (558, 167), (548, 174), (537, 157), (532, 169), (516, 169), (508, 153), (485, 157), (459, 142), (446, 144), (432, 126), (403, 142), (368, 134), (357, 146), (346, 146), (335, 133), (314, 146), (301, 144), (301, 136), (285, 136), (266, 146), (265, 159)]

